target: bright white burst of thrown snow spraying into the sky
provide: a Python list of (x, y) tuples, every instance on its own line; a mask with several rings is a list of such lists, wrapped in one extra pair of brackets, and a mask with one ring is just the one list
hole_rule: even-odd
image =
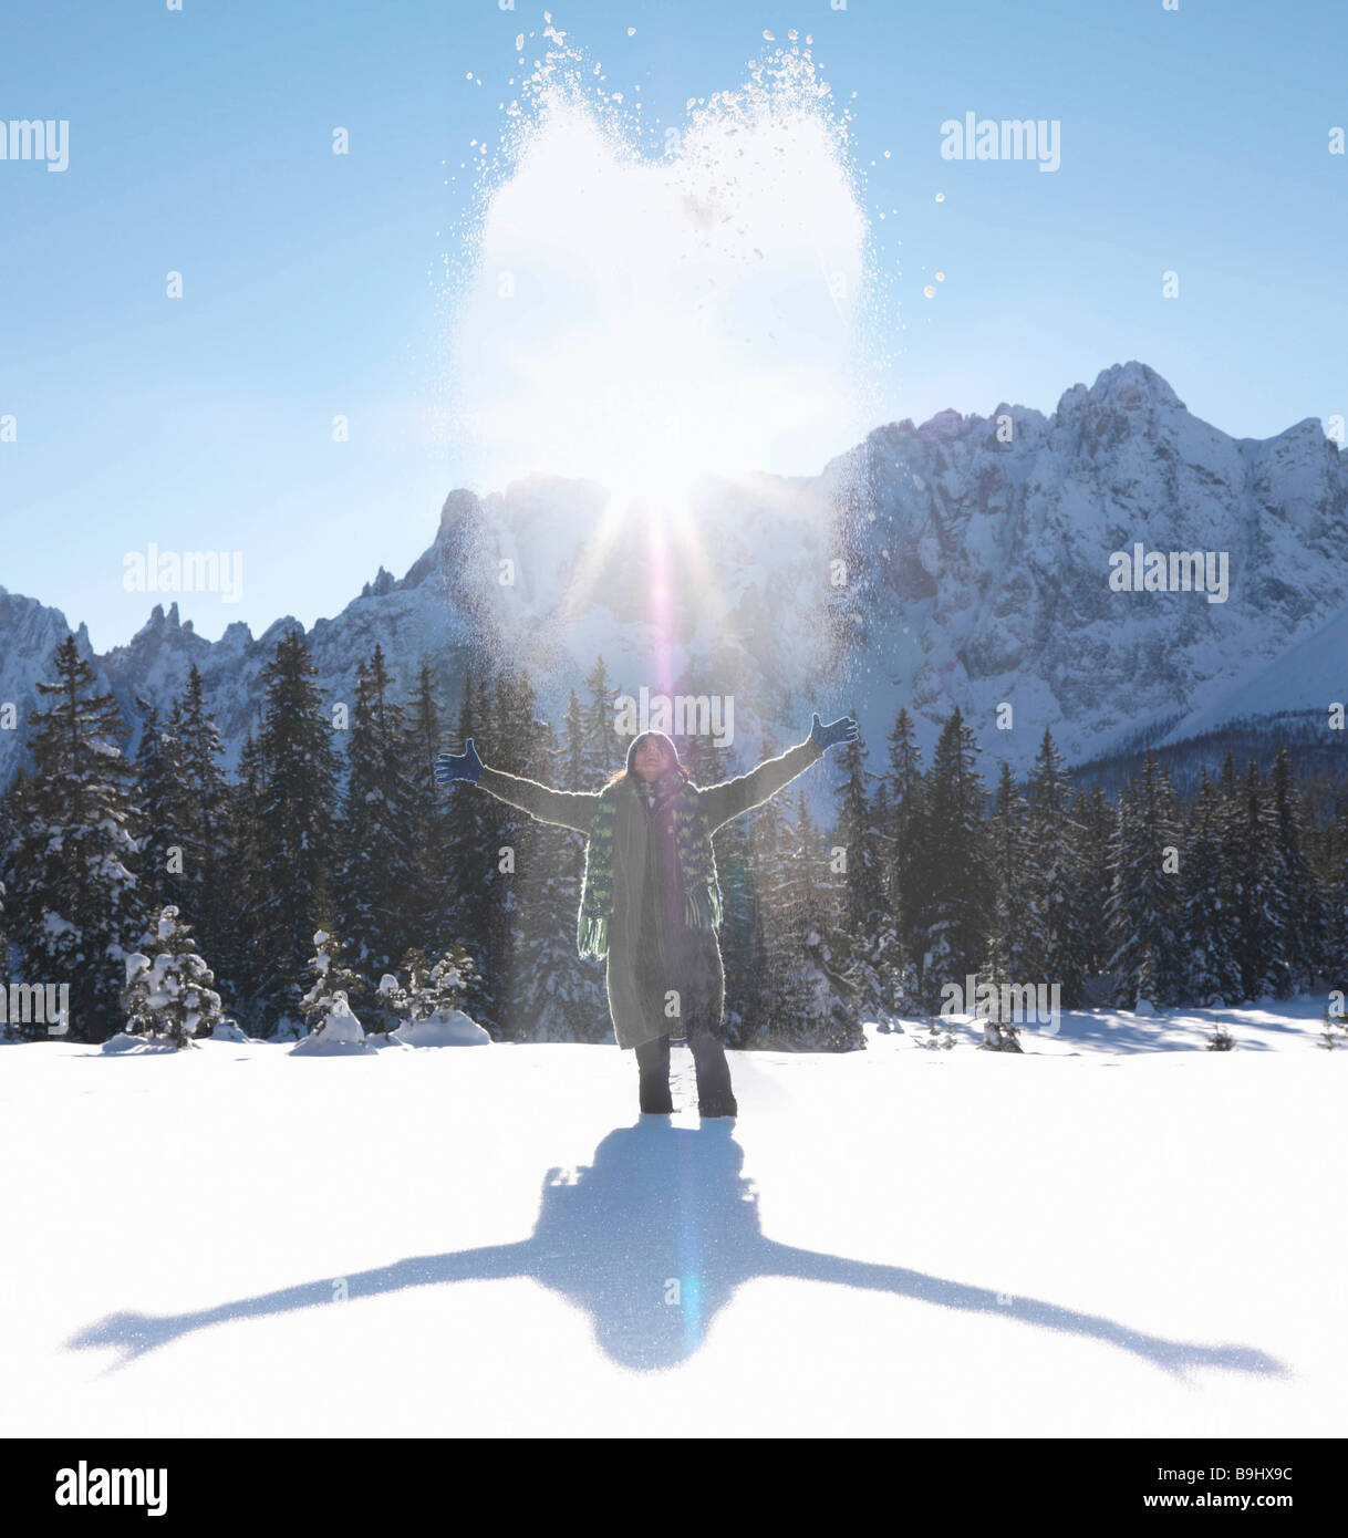
[(668, 489), (817, 474), (865, 437), (869, 226), (809, 38), (674, 125), (551, 22), (516, 45), (454, 295), (460, 463)]

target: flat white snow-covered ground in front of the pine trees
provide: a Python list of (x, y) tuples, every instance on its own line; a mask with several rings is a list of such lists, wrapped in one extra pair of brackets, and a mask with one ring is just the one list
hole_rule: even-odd
[[(1348, 1432), (1319, 1001), (1025, 1052), (0, 1047), (0, 1435)], [(1213, 1018), (1237, 1049), (1206, 1052)]]

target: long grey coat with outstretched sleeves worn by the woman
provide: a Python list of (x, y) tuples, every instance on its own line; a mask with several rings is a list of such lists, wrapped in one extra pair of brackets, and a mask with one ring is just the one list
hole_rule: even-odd
[[(822, 757), (823, 749), (806, 738), (796, 747), (788, 747), (779, 758), (765, 760), (749, 774), (705, 789), (696, 786), (708, 834), (714, 834), (742, 812), (762, 806)], [(540, 823), (574, 827), (586, 837), (599, 809), (597, 791), (551, 791), (537, 780), (489, 769), (486, 764), (482, 766), (477, 783)], [(680, 1023), (665, 1014), (666, 987), (688, 989), (697, 1000), (699, 1009), (709, 1015), (711, 1027), (717, 1034), (725, 1004), (725, 967), (714, 930), (706, 934), (689, 930), (682, 937), (643, 932), (642, 907), (646, 887), (654, 881), (656, 843), (646, 809), (631, 781), (623, 781), (619, 786), (614, 814), (614, 901), (608, 929), (606, 983), (614, 1035), (617, 1044), (625, 1049), (637, 1047), (671, 1030), (674, 1035), (683, 1034)], [(576, 900), (579, 904), (579, 892)], [(651, 912), (649, 903), (646, 912)], [(663, 974), (662, 967), (668, 957), (692, 964), (699, 975), (680, 978)]]

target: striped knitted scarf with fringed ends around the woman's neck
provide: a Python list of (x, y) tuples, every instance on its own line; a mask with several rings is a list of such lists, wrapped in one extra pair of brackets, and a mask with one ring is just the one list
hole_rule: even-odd
[[(662, 812), (674, 803), (674, 849), (679, 855), (679, 877), (683, 891), (683, 923), (689, 929), (716, 929), (720, 923), (720, 883), (716, 855), (697, 791), (671, 769), (654, 784), (632, 775), (643, 807)], [(576, 921), (576, 947), (580, 955), (608, 954), (608, 921), (612, 915), (612, 829), (617, 815), (617, 794), (622, 781), (600, 792), (599, 811), (589, 824), (585, 846), (585, 886)]]

